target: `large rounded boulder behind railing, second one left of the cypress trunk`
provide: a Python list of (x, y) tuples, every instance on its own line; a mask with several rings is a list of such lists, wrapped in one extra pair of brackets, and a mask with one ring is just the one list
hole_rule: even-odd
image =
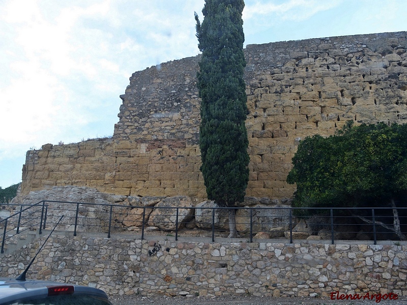
[(179, 227), (193, 218), (194, 209), (191, 208), (193, 207), (191, 197), (167, 197), (154, 206), (153, 211), (150, 214), (149, 225), (158, 227), (161, 230), (175, 230), (177, 223), (177, 209), (174, 207), (179, 207)]

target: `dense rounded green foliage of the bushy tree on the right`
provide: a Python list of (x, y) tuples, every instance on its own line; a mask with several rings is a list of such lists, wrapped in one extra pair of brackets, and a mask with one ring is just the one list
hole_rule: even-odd
[(287, 182), (296, 207), (385, 206), (407, 191), (407, 125), (346, 125), (300, 142)]

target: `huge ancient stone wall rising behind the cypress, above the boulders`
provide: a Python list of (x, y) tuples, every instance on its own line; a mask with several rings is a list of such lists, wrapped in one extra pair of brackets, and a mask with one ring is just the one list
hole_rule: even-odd
[[(356, 124), (407, 123), (407, 32), (248, 45), (247, 195), (290, 198), (301, 139)], [(199, 172), (199, 56), (134, 73), (112, 139), (28, 151), (22, 194), (59, 185), (205, 198)]]

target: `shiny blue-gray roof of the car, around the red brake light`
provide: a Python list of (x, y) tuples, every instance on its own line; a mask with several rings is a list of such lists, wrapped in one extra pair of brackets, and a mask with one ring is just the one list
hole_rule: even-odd
[(74, 285), (69, 283), (60, 283), (52, 281), (26, 280), (19, 281), (12, 278), (0, 278), (0, 304), (10, 302), (16, 299), (30, 297), (46, 297), (48, 296), (48, 287), (74, 287), (73, 294), (92, 295), (107, 300), (107, 295), (104, 291), (87, 286)]

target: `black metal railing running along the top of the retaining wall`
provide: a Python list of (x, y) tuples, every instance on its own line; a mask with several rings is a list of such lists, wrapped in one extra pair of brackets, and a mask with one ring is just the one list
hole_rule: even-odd
[[(167, 236), (180, 234), (191, 236), (197, 229), (203, 235), (226, 237), (228, 234), (228, 209), (236, 210), (236, 225), (241, 235), (253, 242), (256, 233), (266, 232), (271, 238), (305, 239), (307, 235), (319, 235), (334, 244), (338, 239), (399, 240), (393, 230), (394, 215), (390, 207), (376, 208), (295, 208), (295, 207), (161, 207), (129, 206), (44, 200), (33, 205), (17, 205), (11, 216), (0, 220), (3, 229), (2, 248), (8, 238), (26, 230), (42, 230), (52, 227), (62, 215), (57, 230), (77, 232), (101, 232), (110, 238), (112, 232), (139, 233), (141, 239), (152, 232), (151, 226), (167, 232)], [(407, 229), (407, 208), (397, 208), (401, 222), (400, 232)], [(376, 215), (375, 215), (376, 211)], [(306, 223), (304, 217), (308, 215)], [(309, 217), (309, 215), (312, 215)], [(194, 224), (195, 222), (195, 224)], [(15, 231), (15, 232), (14, 232)], [(153, 233), (152, 234), (156, 234)], [(352, 238), (353, 236), (353, 238)], [(314, 237), (318, 238), (318, 237)]]

